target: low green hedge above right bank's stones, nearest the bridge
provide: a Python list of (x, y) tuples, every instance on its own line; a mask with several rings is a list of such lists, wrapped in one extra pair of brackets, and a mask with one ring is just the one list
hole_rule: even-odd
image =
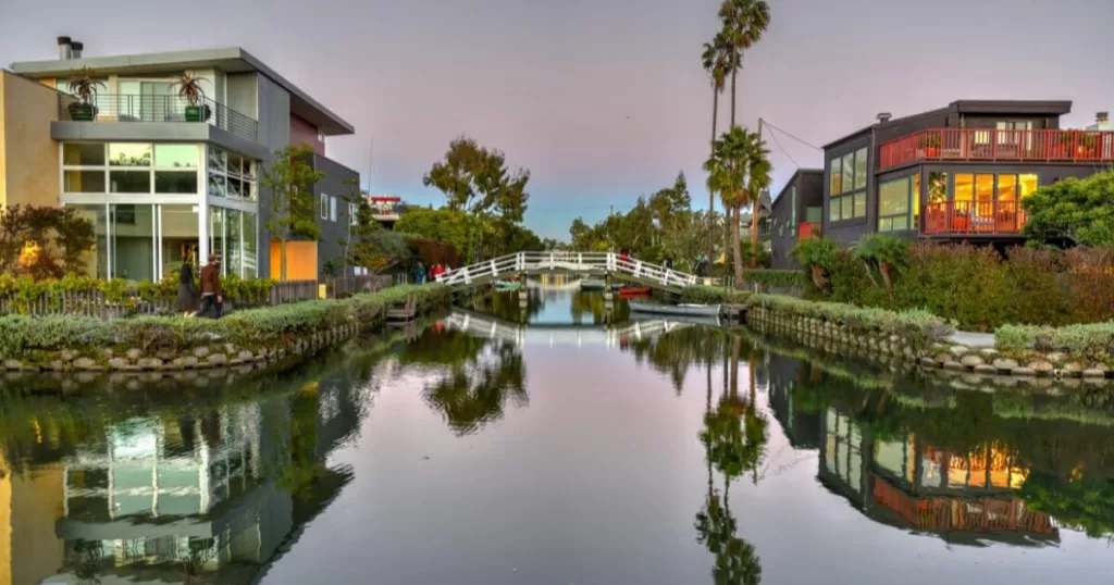
[(844, 303), (808, 301), (780, 294), (751, 295), (746, 304), (783, 314), (820, 319), (846, 326), (857, 334), (898, 335), (918, 350), (930, 348), (955, 331), (952, 323), (920, 309), (888, 311)]

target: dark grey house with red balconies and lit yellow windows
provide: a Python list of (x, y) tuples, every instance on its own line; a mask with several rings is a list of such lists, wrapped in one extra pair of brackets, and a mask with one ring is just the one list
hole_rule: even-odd
[(1071, 101), (960, 100), (824, 146), (823, 234), (1016, 242), (1039, 185), (1114, 163), (1114, 131), (1065, 130)]

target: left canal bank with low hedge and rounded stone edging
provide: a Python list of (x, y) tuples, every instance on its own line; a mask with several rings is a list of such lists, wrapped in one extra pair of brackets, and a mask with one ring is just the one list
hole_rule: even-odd
[(430, 284), (241, 311), (219, 320), (7, 315), (0, 318), (0, 360), (4, 370), (28, 372), (236, 368), (375, 331), (387, 323), (391, 306), (412, 303), (421, 315), (447, 308), (451, 299), (448, 287)]

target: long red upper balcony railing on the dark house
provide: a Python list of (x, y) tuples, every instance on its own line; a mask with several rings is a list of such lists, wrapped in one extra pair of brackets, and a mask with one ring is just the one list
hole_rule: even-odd
[(879, 169), (920, 160), (1114, 162), (1114, 131), (936, 128), (882, 145)]

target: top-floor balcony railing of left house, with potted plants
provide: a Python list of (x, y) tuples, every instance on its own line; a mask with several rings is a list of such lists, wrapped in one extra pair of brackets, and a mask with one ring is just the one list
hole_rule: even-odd
[(212, 124), (222, 130), (255, 140), (260, 124), (212, 99), (192, 107), (178, 96), (98, 94), (92, 104), (76, 96), (58, 97), (58, 119), (69, 121), (173, 121)]

